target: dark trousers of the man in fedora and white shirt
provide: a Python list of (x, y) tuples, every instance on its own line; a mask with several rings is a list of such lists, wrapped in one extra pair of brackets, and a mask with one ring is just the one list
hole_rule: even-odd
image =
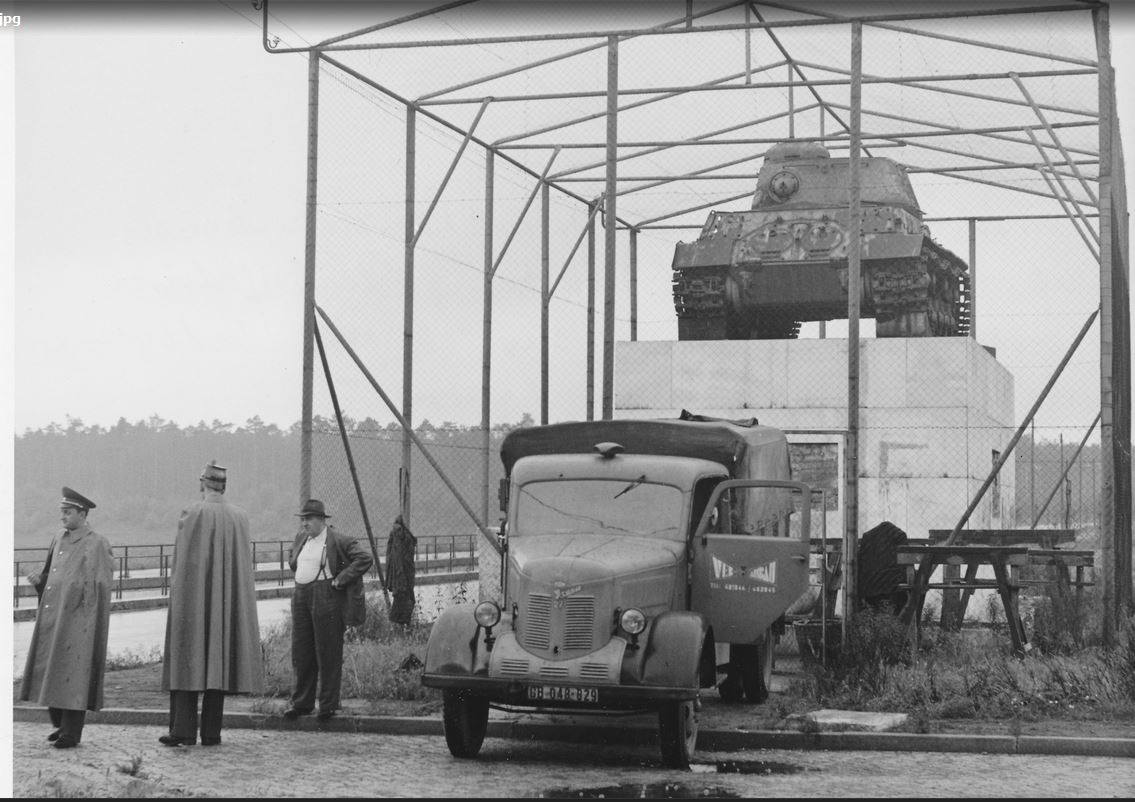
[(292, 707), (301, 712), (314, 709), (317, 692), (320, 712), (339, 709), (346, 598), (330, 580), (296, 584), (292, 594)]

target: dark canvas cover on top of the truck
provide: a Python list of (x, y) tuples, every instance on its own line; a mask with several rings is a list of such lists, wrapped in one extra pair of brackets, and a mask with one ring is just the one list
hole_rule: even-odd
[(692, 415), (680, 419), (575, 421), (516, 429), (501, 444), (506, 474), (521, 457), (535, 454), (590, 454), (599, 442), (617, 442), (627, 454), (695, 457), (720, 463), (733, 479), (790, 476), (788, 440), (756, 419), (726, 421)]

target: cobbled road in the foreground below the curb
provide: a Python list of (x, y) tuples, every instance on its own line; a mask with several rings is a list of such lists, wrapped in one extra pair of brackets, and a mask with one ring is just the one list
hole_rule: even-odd
[(487, 738), (469, 761), (451, 757), (440, 736), (233, 728), (220, 746), (170, 749), (157, 741), (160, 727), (99, 724), (61, 751), (44, 741), (48, 731), (12, 724), (12, 795), (1135, 796), (1129, 758), (748, 750), (699, 752), (679, 771), (647, 745)]

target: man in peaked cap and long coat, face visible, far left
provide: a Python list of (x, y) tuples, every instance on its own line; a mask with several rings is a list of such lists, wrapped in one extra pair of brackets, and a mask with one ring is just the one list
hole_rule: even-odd
[(87, 710), (102, 707), (110, 631), (110, 543), (87, 526), (94, 501), (64, 488), (64, 530), (51, 541), (43, 571), (27, 581), (40, 596), (19, 699), (48, 708), (56, 749), (77, 746)]

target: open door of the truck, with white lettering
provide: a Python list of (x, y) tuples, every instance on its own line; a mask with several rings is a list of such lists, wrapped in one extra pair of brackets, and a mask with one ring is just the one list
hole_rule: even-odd
[[(718, 643), (755, 643), (808, 586), (810, 504), (802, 482), (729, 480), (714, 490), (690, 542), (690, 607)], [(789, 517), (800, 525), (790, 534)]]

